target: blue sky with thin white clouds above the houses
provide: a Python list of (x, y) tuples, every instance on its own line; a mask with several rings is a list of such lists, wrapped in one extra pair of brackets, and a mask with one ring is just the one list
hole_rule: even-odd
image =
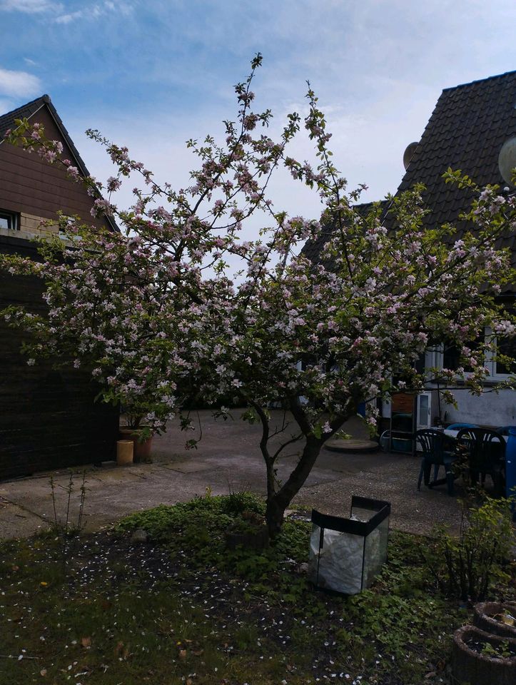
[[(279, 128), (310, 79), (338, 167), (380, 199), (442, 88), (516, 68), (514, 0), (0, 0), (0, 26), (0, 113), (49, 93), (98, 178), (111, 170), (88, 127), (183, 183), (183, 142), (234, 117), (233, 85), (260, 51), (258, 106)], [(309, 143), (293, 153), (310, 158)], [(278, 209), (318, 211), (285, 176), (272, 192)]]

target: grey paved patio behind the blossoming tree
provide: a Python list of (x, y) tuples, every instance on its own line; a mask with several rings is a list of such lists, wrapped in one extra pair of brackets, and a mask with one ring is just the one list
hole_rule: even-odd
[[(282, 412), (273, 412), (280, 424)], [(258, 442), (260, 427), (249, 426), (235, 412), (234, 420), (213, 420), (211, 412), (199, 412), (203, 435), (197, 450), (185, 450), (188, 435), (171, 422), (166, 434), (154, 438), (153, 463), (116, 467), (106, 462), (102, 467), (86, 467), (86, 528), (100, 529), (124, 514), (155, 507), (157, 504), (184, 502), (203, 495), (252, 490), (265, 494), (265, 465)], [(360, 426), (351, 426), (354, 435)], [(285, 435), (289, 435), (287, 430)], [(358, 435), (360, 437), (360, 435)], [(297, 446), (278, 463), (278, 477), (284, 480), (295, 465)], [(92, 461), (94, 455), (92, 455)], [(460, 507), (448, 497), (446, 488), (421, 492), (416, 489), (420, 460), (400, 454), (344, 454), (322, 450), (313, 471), (294, 504), (330, 513), (348, 515), (352, 494), (386, 499), (392, 504), (391, 526), (397, 529), (428, 533), (437, 522), (457, 527)], [(81, 469), (77, 470), (79, 473)], [(46, 528), (54, 521), (49, 485), (50, 472), (34, 477), (0, 482), (0, 539), (23, 537)], [(53, 472), (56, 488), (56, 511), (66, 515), (66, 471)], [(76, 521), (79, 484), (71, 498), (70, 521)], [(460, 487), (457, 494), (460, 495)]]

